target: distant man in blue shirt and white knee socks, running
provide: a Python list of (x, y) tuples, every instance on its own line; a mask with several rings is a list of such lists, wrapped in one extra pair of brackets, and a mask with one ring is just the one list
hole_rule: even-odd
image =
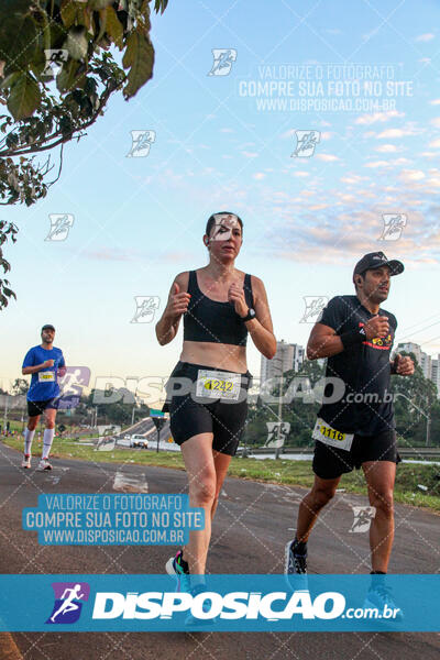
[(55, 417), (59, 402), (58, 376), (66, 373), (63, 351), (53, 345), (55, 328), (42, 328), (42, 343), (30, 349), (24, 358), (22, 374), (32, 374), (28, 392), (28, 428), (24, 431), (24, 457), (22, 468), (31, 468), (31, 447), (40, 416), (44, 414), (45, 430), (43, 453), (37, 470), (52, 470), (48, 454), (55, 435)]

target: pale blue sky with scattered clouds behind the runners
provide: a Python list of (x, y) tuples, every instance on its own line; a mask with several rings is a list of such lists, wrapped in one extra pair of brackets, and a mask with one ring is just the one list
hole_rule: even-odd
[[(0, 210), (20, 229), (4, 250), (16, 301), (2, 311), (0, 386), (45, 322), (90, 385), (167, 376), (183, 329), (160, 346), (154, 326), (175, 275), (207, 264), (221, 210), (243, 219), (235, 266), (263, 279), (277, 340), (306, 345), (312, 300), (353, 293), (355, 262), (382, 250), (405, 263), (384, 305), (396, 343), (440, 353), (440, 6), (420, 9), (170, 0), (153, 14), (153, 79), (66, 145), (45, 199)], [(150, 133), (129, 156), (132, 131)], [(47, 240), (57, 215), (72, 227)], [(143, 298), (157, 309), (133, 322)], [(249, 367), (260, 375), (251, 339)]]

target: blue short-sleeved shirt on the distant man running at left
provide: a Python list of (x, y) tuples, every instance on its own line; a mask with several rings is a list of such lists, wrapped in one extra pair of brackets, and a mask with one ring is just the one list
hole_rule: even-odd
[(53, 360), (54, 366), (42, 369), (32, 374), (31, 385), (28, 391), (28, 400), (30, 402), (43, 402), (59, 396), (57, 370), (66, 365), (61, 349), (53, 346), (48, 351), (42, 349), (42, 346), (33, 346), (24, 358), (23, 367), (43, 364), (46, 360)]

